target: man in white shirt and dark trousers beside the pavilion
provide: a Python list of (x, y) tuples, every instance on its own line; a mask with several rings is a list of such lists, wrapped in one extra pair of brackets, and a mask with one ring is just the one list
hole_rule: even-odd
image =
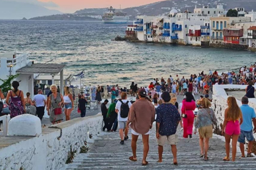
[(44, 108), (46, 107), (46, 97), (42, 95), (42, 89), (38, 90), (38, 94), (34, 96), (33, 102), (37, 107), (37, 116), (42, 121), (44, 116)]

